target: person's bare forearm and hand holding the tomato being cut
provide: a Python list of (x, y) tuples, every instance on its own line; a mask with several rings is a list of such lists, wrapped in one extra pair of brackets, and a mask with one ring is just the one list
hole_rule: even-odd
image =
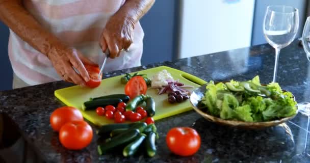
[[(81, 54), (43, 29), (23, 7), (21, 0), (0, 0), (0, 20), (22, 40), (47, 56), (58, 74), (65, 80), (80, 85), (84, 85), (85, 81), (89, 80), (88, 72), (78, 57)], [(79, 70), (81, 75), (77, 74), (72, 66)]]

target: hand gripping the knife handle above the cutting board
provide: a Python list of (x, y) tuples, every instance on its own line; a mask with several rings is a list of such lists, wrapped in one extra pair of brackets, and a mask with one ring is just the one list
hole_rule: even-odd
[(111, 17), (100, 37), (102, 52), (110, 50), (110, 58), (119, 57), (122, 49), (127, 50), (134, 40), (134, 22), (119, 17)]

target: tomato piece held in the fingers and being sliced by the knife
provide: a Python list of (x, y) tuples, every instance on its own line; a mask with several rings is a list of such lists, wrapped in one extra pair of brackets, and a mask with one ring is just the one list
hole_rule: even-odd
[(102, 74), (99, 76), (99, 66), (90, 66), (90, 65), (84, 65), (86, 68), (90, 80), (86, 83), (86, 86), (89, 88), (96, 88), (100, 86)]

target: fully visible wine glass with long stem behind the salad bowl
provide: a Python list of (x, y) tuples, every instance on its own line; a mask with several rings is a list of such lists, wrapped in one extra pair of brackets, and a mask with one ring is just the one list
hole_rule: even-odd
[(264, 36), (275, 48), (273, 82), (276, 82), (280, 50), (290, 45), (298, 31), (298, 9), (290, 6), (268, 6), (263, 23)]

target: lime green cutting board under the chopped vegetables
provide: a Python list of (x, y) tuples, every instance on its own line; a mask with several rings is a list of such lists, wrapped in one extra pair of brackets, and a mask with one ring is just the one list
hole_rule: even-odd
[[(180, 83), (185, 85), (191, 85), (195, 88), (199, 85), (203, 85), (206, 82), (196, 76), (188, 74), (186, 72), (176, 70), (166, 66), (160, 66), (155, 68), (150, 68), (142, 71), (138, 71), (139, 74), (147, 74), (148, 78), (151, 78), (154, 74), (159, 71), (166, 69), (171, 73), (172, 77), (177, 80), (179, 79)], [(131, 73), (134, 74), (135, 72)], [(74, 106), (81, 110), (82, 104), (85, 101), (88, 101), (91, 97), (99, 97), (110, 94), (124, 94), (124, 84), (121, 84), (120, 78), (124, 76), (115, 76), (111, 78), (103, 79), (101, 85), (95, 89), (82, 88), (80, 86), (73, 86), (64, 89), (59, 89), (55, 91), (55, 96), (60, 99), (63, 103), (68, 106)], [(193, 81), (193, 82), (191, 82)], [(196, 84), (197, 83), (197, 84)], [(199, 85), (198, 85), (199, 84)], [(193, 89), (189, 89), (193, 90)], [(182, 103), (171, 104), (168, 102), (167, 94), (158, 95), (157, 89), (148, 88), (146, 94), (151, 95), (154, 101), (156, 102), (156, 114), (153, 116), (154, 120), (166, 118), (172, 115), (190, 111), (192, 109), (189, 100), (186, 100)], [(114, 123), (113, 120), (109, 120), (106, 117), (98, 116), (95, 111), (82, 111), (82, 115), (88, 121), (92, 122), (95, 125), (101, 126), (105, 124)]]

